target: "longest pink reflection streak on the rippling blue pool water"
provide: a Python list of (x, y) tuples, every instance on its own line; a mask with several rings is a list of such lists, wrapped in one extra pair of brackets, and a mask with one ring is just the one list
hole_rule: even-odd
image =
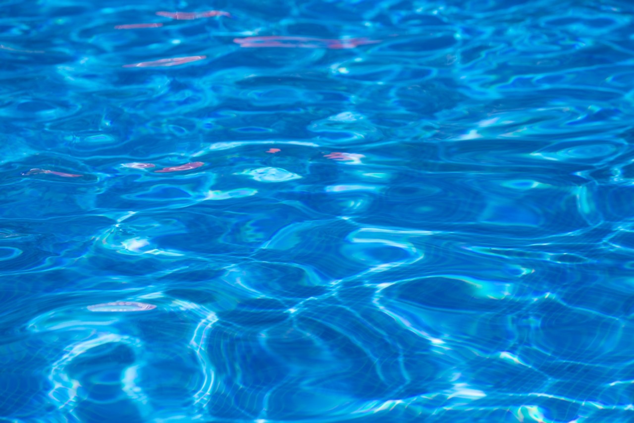
[(375, 44), (378, 40), (367, 38), (325, 39), (311, 37), (265, 36), (235, 38), (240, 47), (287, 47), (287, 48), (355, 48), (363, 44)]

